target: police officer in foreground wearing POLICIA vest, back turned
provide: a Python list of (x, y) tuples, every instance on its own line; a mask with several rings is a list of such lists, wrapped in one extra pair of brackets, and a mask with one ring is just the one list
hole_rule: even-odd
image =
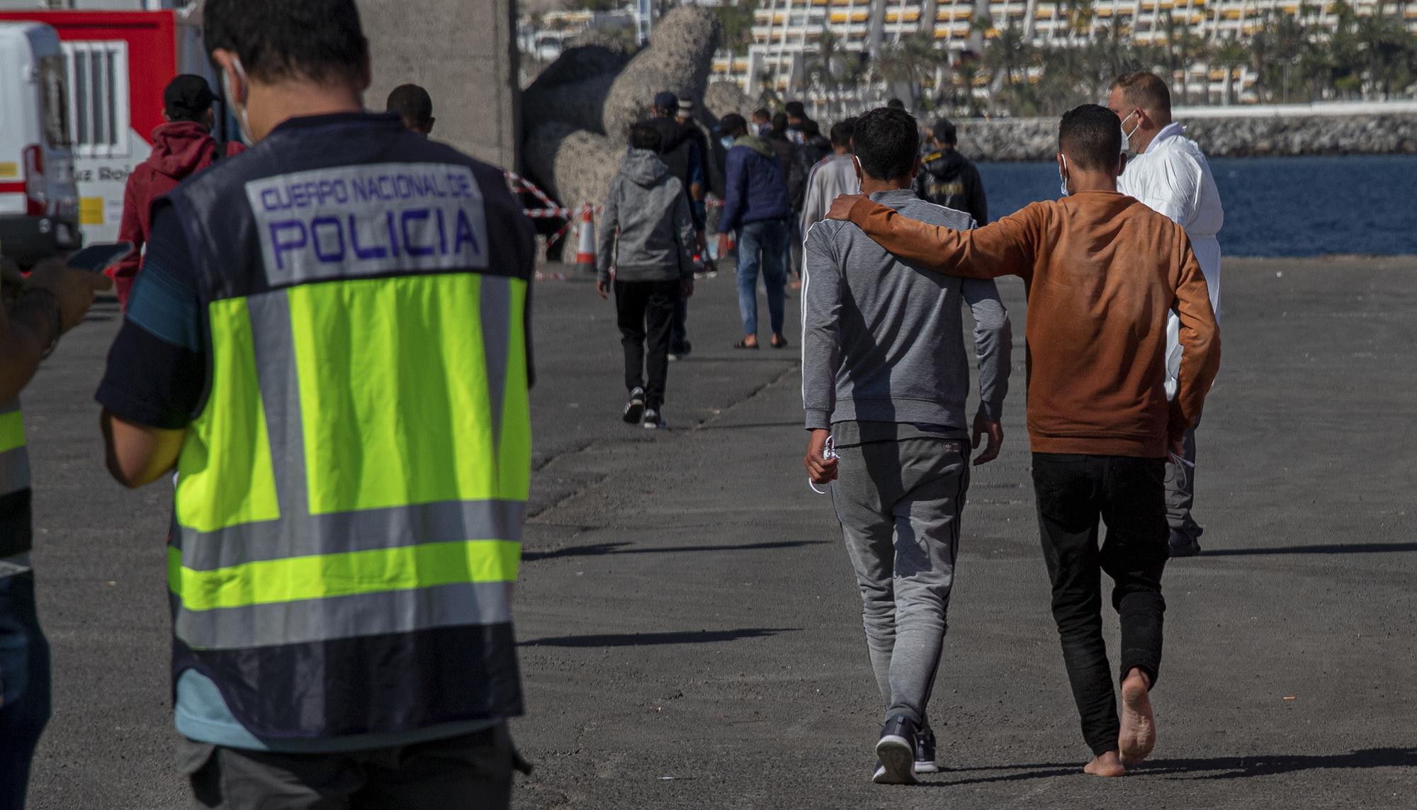
[(502, 173), (366, 113), (354, 0), (208, 0), (254, 146), (153, 211), (98, 399), (177, 470), (200, 806), (506, 807), (533, 236)]

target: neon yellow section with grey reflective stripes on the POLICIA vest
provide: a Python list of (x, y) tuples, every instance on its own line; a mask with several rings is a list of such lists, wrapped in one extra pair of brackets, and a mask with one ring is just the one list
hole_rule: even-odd
[(177, 639), (248, 649), (510, 620), (530, 484), (526, 282), (303, 285), (210, 306), (179, 462)]

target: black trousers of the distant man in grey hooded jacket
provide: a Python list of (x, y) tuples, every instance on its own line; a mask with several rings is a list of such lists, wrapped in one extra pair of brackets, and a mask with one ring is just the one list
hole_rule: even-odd
[(665, 404), (669, 330), (677, 302), (679, 282), (615, 282), (615, 313), (625, 347), (625, 389), (643, 388), (645, 405), (656, 411)]

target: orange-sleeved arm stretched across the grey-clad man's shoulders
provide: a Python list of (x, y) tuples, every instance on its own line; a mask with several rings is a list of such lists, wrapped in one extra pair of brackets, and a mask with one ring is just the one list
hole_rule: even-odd
[[(1034, 202), (1023, 211), (975, 229), (956, 231), (901, 215), (867, 197), (854, 200), (845, 215), (879, 245), (921, 268), (973, 279), (1027, 276), (1033, 272), (1034, 245), (1043, 210)], [(833, 207), (833, 215), (840, 207)]]

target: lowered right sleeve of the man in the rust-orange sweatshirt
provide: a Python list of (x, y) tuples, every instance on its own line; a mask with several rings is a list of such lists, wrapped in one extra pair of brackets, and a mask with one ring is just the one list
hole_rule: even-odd
[[(1180, 231), (1180, 228), (1178, 228)], [(1179, 234), (1179, 283), (1175, 309), (1180, 320), (1180, 374), (1176, 398), (1170, 405), (1170, 439), (1196, 423), (1206, 394), (1220, 371), (1220, 327), (1210, 309), (1210, 290), (1190, 241)]]

